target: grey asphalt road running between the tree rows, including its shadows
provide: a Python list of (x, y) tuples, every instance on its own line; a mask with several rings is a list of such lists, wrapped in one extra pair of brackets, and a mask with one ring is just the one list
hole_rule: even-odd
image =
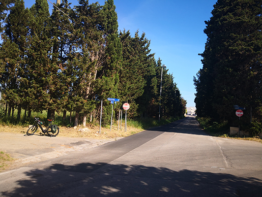
[(262, 144), (187, 117), (0, 173), (1, 197), (261, 197)]

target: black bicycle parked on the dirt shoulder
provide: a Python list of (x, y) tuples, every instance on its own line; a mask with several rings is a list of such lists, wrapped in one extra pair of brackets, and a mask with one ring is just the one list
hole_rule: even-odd
[[(42, 121), (39, 120), (39, 118), (35, 118), (35, 124), (32, 125), (31, 127), (29, 127), (28, 131), (27, 131), (27, 135), (33, 135), (36, 130), (38, 129), (38, 127), (41, 129), (41, 131), (45, 134), (48, 133), (49, 136), (53, 137), (53, 136), (57, 136), (59, 133), (59, 128), (57, 125), (52, 125), (52, 120), (48, 120), (49, 123), (47, 126), (44, 125), (44, 123)], [(46, 128), (43, 129), (42, 125)]]

